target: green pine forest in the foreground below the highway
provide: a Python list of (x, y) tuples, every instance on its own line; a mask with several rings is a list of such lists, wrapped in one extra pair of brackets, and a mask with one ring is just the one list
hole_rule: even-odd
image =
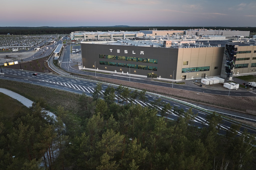
[[(47, 100), (14, 110), (0, 110), (0, 169), (252, 169), (255, 136), (239, 135), (240, 125), (219, 134), (222, 117), (207, 116), (203, 128), (193, 125), (197, 113), (161, 100), (143, 107), (146, 90), (95, 87), (92, 97), (79, 95), (77, 107), (56, 106), (57, 119), (47, 116)], [(121, 99), (115, 101), (115, 94)], [(62, 98), (60, 95), (59, 98)], [(0, 97), (1, 99), (1, 97)], [(161, 109), (156, 106), (162, 106)], [(158, 109), (157, 109), (158, 108)], [(167, 118), (167, 110), (178, 115)], [(64, 124), (63, 124), (64, 123)], [(40, 165), (40, 161), (44, 164)], [(40, 165), (40, 166), (39, 166)]]

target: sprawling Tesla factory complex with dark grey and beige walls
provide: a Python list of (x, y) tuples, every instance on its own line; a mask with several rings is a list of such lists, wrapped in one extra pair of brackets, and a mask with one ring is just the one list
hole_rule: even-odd
[[(128, 36), (95, 32), (96, 41), (81, 42), (82, 67), (174, 81), (217, 76), (232, 80), (234, 75), (255, 74), (256, 44), (248, 31), (195, 31), (152, 29)], [(101, 35), (110, 38), (99, 40)]]

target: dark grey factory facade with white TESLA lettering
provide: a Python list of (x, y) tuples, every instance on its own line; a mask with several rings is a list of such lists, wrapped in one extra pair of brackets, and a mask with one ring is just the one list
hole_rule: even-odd
[(82, 66), (148, 77), (170, 77), (177, 70), (178, 49), (81, 43)]

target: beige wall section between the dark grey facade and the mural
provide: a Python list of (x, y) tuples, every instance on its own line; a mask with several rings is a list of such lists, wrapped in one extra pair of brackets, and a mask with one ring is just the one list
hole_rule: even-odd
[[(223, 47), (200, 47), (200, 48), (179, 48), (178, 61), (177, 61), (177, 80), (186, 76), (186, 80), (200, 79), (202, 74), (207, 77), (214, 77), (220, 75)], [(188, 62), (188, 65), (183, 65), (184, 62)], [(184, 63), (185, 64), (185, 63)], [(209, 71), (198, 71), (182, 73), (182, 68), (193, 67), (207, 67), (210, 66)]]

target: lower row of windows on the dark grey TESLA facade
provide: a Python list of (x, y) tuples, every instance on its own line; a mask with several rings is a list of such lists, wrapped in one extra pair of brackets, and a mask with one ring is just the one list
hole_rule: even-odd
[(144, 66), (144, 65), (138, 65), (138, 64), (126, 64), (126, 63), (117, 63), (117, 62), (108, 62), (108, 61), (100, 61), (100, 64), (106, 65), (106, 66), (117, 66), (117, 67), (157, 71), (157, 67)]

